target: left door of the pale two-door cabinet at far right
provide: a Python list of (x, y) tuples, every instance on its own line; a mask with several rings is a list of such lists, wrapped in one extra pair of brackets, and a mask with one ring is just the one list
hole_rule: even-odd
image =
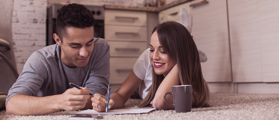
[(256, 0), (228, 0), (233, 82), (263, 82)]

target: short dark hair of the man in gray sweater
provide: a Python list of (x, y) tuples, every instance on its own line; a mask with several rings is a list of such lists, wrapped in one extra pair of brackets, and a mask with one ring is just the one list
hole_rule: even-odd
[(84, 5), (76, 3), (68, 4), (63, 6), (58, 12), (56, 19), (57, 35), (61, 42), (63, 42), (63, 37), (68, 36), (68, 28), (85, 29), (93, 26), (95, 30), (95, 23), (93, 14)]

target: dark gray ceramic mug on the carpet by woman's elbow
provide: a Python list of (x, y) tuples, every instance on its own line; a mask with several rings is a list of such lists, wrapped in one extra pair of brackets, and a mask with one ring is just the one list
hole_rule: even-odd
[[(170, 94), (174, 104), (166, 100), (166, 95)], [(192, 109), (192, 85), (172, 86), (172, 92), (167, 92), (164, 95), (166, 103), (171, 105), (177, 113), (190, 112)]]

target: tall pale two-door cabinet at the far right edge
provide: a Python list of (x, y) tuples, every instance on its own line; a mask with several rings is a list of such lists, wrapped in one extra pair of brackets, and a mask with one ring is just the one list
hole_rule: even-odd
[(228, 0), (233, 82), (279, 82), (278, 4)]

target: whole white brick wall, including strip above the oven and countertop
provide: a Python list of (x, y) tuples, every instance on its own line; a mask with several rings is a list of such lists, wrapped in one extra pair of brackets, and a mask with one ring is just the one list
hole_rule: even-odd
[[(164, 1), (165, 4), (168, 4), (176, 0)], [(105, 4), (144, 6), (146, 0), (15, 0), (12, 26), (15, 57), (19, 74), (22, 72), (29, 56), (34, 51), (46, 46), (46, 8), (55, 3), (78, 3), (95, 6)]]

